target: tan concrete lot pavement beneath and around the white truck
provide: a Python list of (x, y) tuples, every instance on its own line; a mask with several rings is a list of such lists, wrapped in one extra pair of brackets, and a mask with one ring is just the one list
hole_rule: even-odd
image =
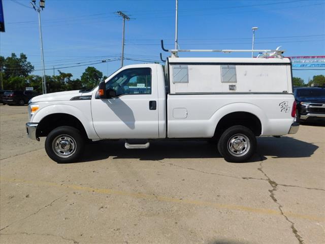
[(205, 141), (87, 145), (57, 164), (0, 105), (1, 243), (325, 243), (325, 127), (258, 138), (248, 163)]

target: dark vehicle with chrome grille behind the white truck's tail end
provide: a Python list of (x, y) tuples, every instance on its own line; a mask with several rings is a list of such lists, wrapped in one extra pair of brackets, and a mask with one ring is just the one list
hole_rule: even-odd
[(325, 87), (296, 87), (297, 120), (325, 121)]

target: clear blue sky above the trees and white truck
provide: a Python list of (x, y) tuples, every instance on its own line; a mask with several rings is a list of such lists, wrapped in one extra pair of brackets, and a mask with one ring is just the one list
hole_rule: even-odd
[[(29, 1), (3, 0), (3, 7), (6, 32), (0, 33), (0, 55), (23, 52), (35, 66), (33, 74), (41, 75), (38, 13)], [(181, 49), (251, 49), (251, 27), (257, 26), (255, 49), (282, 46), (285, 56), (325, 55), (325, 1), (179, 0), (178, 9)], [(119, 69), (122, 18), (117, 11), (130, 17), (125, 21), (124, 65), (159, 62), (160, 52), (169, 55), (161, 50), (160, 40), (166, 48), (174, 48), (174, 0), (46, 0), (41, 12), (46, 74), (60, 70), (80, 78), (88, 66), (106, 76)], [(251, 53), (179, 56), (250, 57)], [(294, 70), (293, 74), (308, 82), (325, 71)]]

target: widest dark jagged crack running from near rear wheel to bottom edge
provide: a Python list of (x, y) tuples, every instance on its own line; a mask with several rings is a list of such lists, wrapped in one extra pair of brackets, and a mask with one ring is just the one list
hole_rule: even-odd
[(263, 171), (263, 158), (261, 155), (259, 155), (261, 157), (261, 162), (259, 163), (259, 168), (257, 168), (257, 170), (261, 171), (265, 177), (267, 177), (267, 181), (269, 182), (269, 184), (271, 185), (272, 189), (269, 190), (270, 192), (270, 197), (272, 198), (272, 200), (278, 205), (278, 208), (280, 210), (281, 215), (286, 219), (287, 222), (289, 222), (291, 224), (291, 230), (294, 233), (294, 235), (296, 236), (297, 240), (299, 241), (299, 244), (303, 244), (304, 243), (304, 239), (301, 237), (301, 235), (298, 233), (298, 230), (295, 227), (295, 223), (291, 220), (288, 219), (288, 217), (284, 214), (282, 208), (283, 206), (278, 202), (278, 200), (275, 197), (274, 192), (277, 191), (277, 186), (279, 186), (279, 184), (277, 184), (277, 182), (275, 182), (274, 180), (272, 180), (264, 171)]

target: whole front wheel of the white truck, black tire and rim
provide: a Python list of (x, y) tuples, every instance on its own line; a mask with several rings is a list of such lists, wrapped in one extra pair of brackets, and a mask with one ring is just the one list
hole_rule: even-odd
[(82, 154), (85, 139), (74, 127), (60, 126), (52, 130), (45, 140), (47, 155), (55, 162), (76, 162)]

